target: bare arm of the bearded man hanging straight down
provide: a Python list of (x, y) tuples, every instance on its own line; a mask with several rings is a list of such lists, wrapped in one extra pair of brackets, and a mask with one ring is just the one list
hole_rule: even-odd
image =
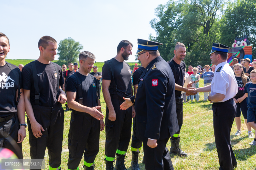
[(115, 121), (116, 120), (116, 112), (114, 110), (112, 101), (111, 101), (111, 96), (109, 93), (109, 86), (110, 86), (111, 80), (102, 80), (102, 93), (103, 93), (103, 97), (104, 100), (106, 102), (106, 105), (108, 107), (109, 110), (109, 117), (108, 119), (111, 121)]

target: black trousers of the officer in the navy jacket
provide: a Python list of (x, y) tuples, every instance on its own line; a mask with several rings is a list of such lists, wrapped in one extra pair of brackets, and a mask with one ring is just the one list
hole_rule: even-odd
[(143, 141), (146, 170), (174, 170), (169, 150), (166, 147), (169, 138), (157, 140), (157, 147), (151, 148)]

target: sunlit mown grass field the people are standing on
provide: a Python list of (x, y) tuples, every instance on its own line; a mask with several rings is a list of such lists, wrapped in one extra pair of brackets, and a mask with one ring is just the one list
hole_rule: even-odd
[[(200, 87), (203, 87), (203, 79), (200, 80)], [(216, 145), (214, 141), (214, 132), (213, 132), (213, 112), (212, 104), (208, 101), (203, 100), (203, 93), (200, 93), (199, 102), (190, 102), (184, 103), (183, 106), (183, 125), (181, 128), (181, 149), (188, 153), (187, 158), (180, 158), (178, 156), (172, 157), (172, 162), (175, 170), (218, 170), (219, 169), (219, 160), (216, 150)], [(102, 93), (101, 93), (101, 106), (102, 112), (105, 115), (106, 104), (104, 102)], [(65, 106), (63, 105), (65, 110)], [(65, 121), (64, 121), (64, 137), (63, 137), (63, 152), (62, 152), (62, 162), (61, 168), (67, 169), (68, 162), (68, 132), (70, 125), (70, 114), (71, 111), (65, 112)], [(243, 117), (243, 116), (242, 116)], [(232, 130), (231, 130), (231, 144), (235, 156), (237, 158), (238, 168), (237, 170), (256, 170), (256, 146), (250, 146), (249, 143), (253, 139), (248, 138), (248, 131), (245, 126), (244, 118), (242, 118), (241, 125), (242, 135), (234, 136), (237, 131), (236, 124), (234, 121)], [(254, 132), (254, 130), (253, 130)], [(28, 135), (28, 131), (27, 131)], [(132, 136), (132, 133), (131, 133)], [(167, 143), (167, 147), (170, 148), (170, 142)], [(29, 136), (27, 136), (23, 142), (23, 154), (24, 159), (30, 158), (30, 146), (29, 146)], [(130, 145), (126, 154), (126, 167), (128, 170), (131, 170), (131, 158), (132, 153), (130, 151)], [(144, 164), (141, 163), (143, 157), (143, 147), (140, 152), (139, 165), (141, 170), (145, 169)], [(100, 132), (100, 146), (99, 153), (96, 156), (96, 168), (97, 170), (105, 169), (105, 130)], [(49, 164), (49, 156), (46, 151), (46, 168)], [(83, 160), (81, 160), (79, 169), (83, 169)]]

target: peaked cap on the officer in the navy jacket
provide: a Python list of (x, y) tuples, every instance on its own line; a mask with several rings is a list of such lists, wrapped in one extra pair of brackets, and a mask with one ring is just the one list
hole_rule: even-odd
[(142, 40), (138, 38), (138, 50), (136, 54), (147, 50), (147, 51), (157, 51), (158, 45), (162, 45), (162, 43), (154, 42), (154, 41), (148, 41), (148, 40)]

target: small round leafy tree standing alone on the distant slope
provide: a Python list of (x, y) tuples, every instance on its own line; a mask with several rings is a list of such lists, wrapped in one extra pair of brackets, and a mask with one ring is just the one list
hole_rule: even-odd
[(82, 44), (69, 37), (59, 42), (57, 55), (59, 55), (59, 60), (66, 60), (68, 63), (75, 62), (82, 49)]

